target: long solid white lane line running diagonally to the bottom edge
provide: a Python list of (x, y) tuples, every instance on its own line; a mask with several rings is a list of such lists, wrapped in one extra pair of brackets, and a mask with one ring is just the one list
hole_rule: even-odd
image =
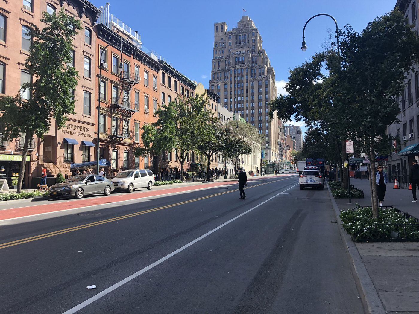
[[(295, 185), (298, 185), (298, 184), (299, 183), (297, 183)], [(292, 185), (292, 187), (287, 188), (285, 191), (282, 191), (282, 193), (284, 193), (287, 190), (290, 190), (291, 188), (295, 187), (295, 185)], [(247, 213), (253, 211), (253, 209), (258, 208), (259, 206), (263, 205), (266, 202), (269, 202), (270, 200), (272, 200), (272, 198), (275, 198), (280, 194), (281, 193), (278, 193), (277, 195), (274, 195), (271, 198), (268, 198), (266, 201), (263, 201), (262, 203), (259, 203), (258, 205), (250, 208), (249, 210), (245, 211), (244, 213), (242, 213), (238, 216), (235, 216), (234, 218), (230, 219), (229, 221), (226, 221), (224, 224), (218, 226), (217, 228), (212, 229), (211, 231), (207, 232), (206, 234), (203, 234), (201, 237), (199, 237), (197, 239), (194, 239), (193, 241), (189, 242), (188, 244), (184, 245), (183, 247), (178, 248), (176, 251), (173, 251), (170, 254), (166, 255), (165, 257), (160, 258), (160, 260), (155, 261), (153, 264), (150, 264), (147, 267), (143, 268), (142, 270), (137, 271), (137, 273), (133, 273), (132, 275), (128, 276), (127, 278), (122, 279), (118, 283), (115, 283), (113, 286), (110, 286), (109, 288), (99, 292), (95, 296), (92, 296), (90, 299), (87, 299), (86, 301), (84, 301), (84, 302), (74, 306), (73, 308), (69, 309), (68, 311), (65, 311), (63, 314), (73, 314), (73, 313), (83, 309), (84, 307), (86, 307), (89, 304), (93, 303), (94, 301), (100, 299), (101, 297), (106, 296), (106, 294), (114, 291), (116, 288), (119, 288), (120, 286), (124, 285), (125, 283), (127, 283), (129, 281), (132, 281), (132, 279), (137, 278), (139, 275), (145, 273), (147, 270), (150, 270), (150, 269), (154, 268), (155, 266), (163, 263), (165, 260), (168, 260), (169, 258), (173, 257), (174, 255), (178, 254), (179, 252), (182, 252), (183, 250), (190, 247), (191, 245), (197, 243), (198, 241), (204, 239), (205, 237), (209, 236), (210, 234), (212, 234), (212, 233), (216, 232), (217, 230), (221, 229), (223, 226), (226, 226), (226, 225), (230, 224), (230, 222), (235, 221), (236, 219), (240, 218), (243, 215), (246, 215)]]

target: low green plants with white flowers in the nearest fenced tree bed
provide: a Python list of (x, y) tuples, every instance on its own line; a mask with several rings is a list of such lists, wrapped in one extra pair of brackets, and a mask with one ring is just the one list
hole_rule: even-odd
[(403, 239), (406, 231), (406, 238), (418, 239), (419, 226), (374, 226), (374, 224), (416, 224), (416, 219), (406, 219), (403, 214), (400, 214), (394, 208), (379, 209), (379, 217), (372, 217), (372, 208), (364, 207), (358, 208), (355, 211), (342, 211), (339, 215), (342, 220), (343, 229), (350, 234), (355, 241), (363, 239), (391, 239), (391, 231), (399, 232)]

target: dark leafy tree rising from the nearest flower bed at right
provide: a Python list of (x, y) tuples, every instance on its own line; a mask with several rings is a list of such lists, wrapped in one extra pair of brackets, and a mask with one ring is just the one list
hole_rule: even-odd
[(378, 217), (375, 157), (390, 147), (386, 128), (398, 122), (397, 96), (406, 86), (406, 73), (419, 62), (419, 41), (400, 10), (375, 18), (357, 33), (341, 32), (343, 71), (336, 106), (347, 115), (350, 139), (370, 159), (372, 213)]

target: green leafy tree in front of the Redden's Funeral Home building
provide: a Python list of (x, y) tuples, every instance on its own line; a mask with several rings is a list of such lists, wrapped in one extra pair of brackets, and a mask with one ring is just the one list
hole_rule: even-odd
[[(72, 41), (80, 30), (80, 21), (66, 15), (64, 8), (57, 14), (43, 13), (43, 29), (31, 26), (30, 55), (25, 60), (25, 71), (32, 78), (21, 86), (21, 92), (0, 100), (0, 123), (5, 127), (6, 139), (21, 136), (22, 162), (18, 178), (19, 193), (22, 188), (28, 147), (34, 135), (48, 133), (52, 119), (62, 128), (70, 114), (74, 114), (74, 98), (78, 72), (68, 67), (71, 62)], [(21, 143), (22, 144), (22, 143)]]

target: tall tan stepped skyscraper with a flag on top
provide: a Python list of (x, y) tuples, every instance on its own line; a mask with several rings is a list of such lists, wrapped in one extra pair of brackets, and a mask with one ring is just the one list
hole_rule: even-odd
[(220, 96), (220, 103), (240, 114), (247, 123), (266, 136), (262, 149), (265, 160), (278, 160), (278, 119), (269, 120), (269, 106), (277, 96), (275, 71), (262, 37), (253, 21), (243, 16), (237, 28), (214, 24), (214, 49), (209, 88)]

